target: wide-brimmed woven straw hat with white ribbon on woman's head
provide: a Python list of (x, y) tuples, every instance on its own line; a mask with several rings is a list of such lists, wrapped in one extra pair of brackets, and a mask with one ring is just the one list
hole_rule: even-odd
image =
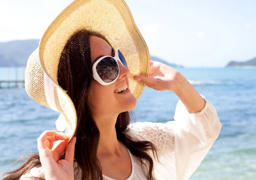
[(49, 25), (39, 48), (29, 57), (25, 88), (32, 99), (64, 116), (65, 133), (71, 137), (76, 130), (76, 110), (58, 85), (58, 62), (67, 41), (82, 29), (103, 34), (113, 48), (122, 51), (130, 69), (129, 88), (137, 100), (145, 84), (133, 78), (140, 74), (148, 76), (150, 66), (148, 47), (124, 0), (74, 0), (67, 6)]

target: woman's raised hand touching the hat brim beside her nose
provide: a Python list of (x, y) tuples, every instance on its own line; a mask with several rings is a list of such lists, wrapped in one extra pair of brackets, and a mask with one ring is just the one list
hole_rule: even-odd
[(179, 90), (184, 80), (186, 80), (174, 68), (157, 61), (150, 61), (148, 77), (139, 75), (134, 79), (145, 82), (147, 87), (151, 87), (154, 90), (171, 90), (174, 92)]

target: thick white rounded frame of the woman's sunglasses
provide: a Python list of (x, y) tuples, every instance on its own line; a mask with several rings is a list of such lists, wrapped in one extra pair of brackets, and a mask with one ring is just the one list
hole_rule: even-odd
[[(115, 56), (114, 56), (114, 57), (112, 57), (112, 56), (102, 56), (101, 58), (99, 58), (99, 59), (93, 64), (93, 78), (94, 78), (97, 82), (99, 82), (99, 84), (102, 84), (103, 86), (107, 86), (107, 85), (109, 85), (109, 84), (112, 84), (113, 82), (116, 81), (116, 79), (117, 79), (118, 76), (119, 76), (120, 68), (119, 68), (119, 63), (118, 63), (118, 62), (121, 62), (122, 65), (123, 65), (123, 63), (122, 63), (122, 61), (119, 59), (118, 50), (119, 50), (119, 48), (116, 48), (116, 49), (115, 49)], [(121, 51), (120, 51), (120, 53), (121, 53)], [(122, 53), (121, 53), (121, 54), (122, 54)], [(122, 55), (122, 56), (123, 56), (123, 55)], [(99, 74), (97, 73), (97, 70), (96, 70), (96, 67), (97, 67), (98, 63), (99, 63), (102, 59), (104, 59), (104, 58), (106, 58), (106, 57), (111, 57), (111, 58), (115, 59), (117, 65), (118, 65), (118, 75), (116, 76), (116, 79), (114, 79), (112, 82), (104, 82), (104, 81), (99, 77)], [(125, 59), (125, 58), (124, 58), (124, 59)], [(126, 62), (125, 62), (125, 63), (126, 63)], [(124, 65), (123, 65), (123, 66), (124, 66)], [(124, 67), (125, 67), (125, 66), (124, 66)]]

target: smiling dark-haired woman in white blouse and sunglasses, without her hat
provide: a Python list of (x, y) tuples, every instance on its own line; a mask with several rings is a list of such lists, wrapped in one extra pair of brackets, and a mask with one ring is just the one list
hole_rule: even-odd
[[(43, 45), (41, 40), (39, 55), (35, 51), (31, 57), (37, 56), (35, 61), (40, 57), (42, 68), (54, 82), (47, 71), (52, 66), (42, 63), (49, 59), (40, 55)], [(66, 113), (71, 133), (43, 132), (38, 138), (39, 156), (31, 155), (20, 168), (7, 173), (5, 180), (186, 180), (192, 175), (218, 138), (221, 124), (215, 108), (177, 70), (151, 61), (148, 76), (134, 79), (155, 90), (176, 93), (180, 101), (175, 121), (130, 124), (129, 111), (137, 104), (136, 90), (130, 90), (129, 65), (133, 67), (116, 48), (93, 31), (81, 30), (68, 39), (57, 64), (56, 84), (75, 107), (75, 130)], [(56, 99), (55, 103), (60, 110)], [(54, 141), (58, 143), (53, 145)]]

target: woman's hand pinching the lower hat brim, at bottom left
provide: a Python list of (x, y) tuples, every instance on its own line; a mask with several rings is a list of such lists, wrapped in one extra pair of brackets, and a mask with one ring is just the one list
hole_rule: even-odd
[[(73, 137), (70, 143), (68, 143), (69, 139), (64, 133), (57, 131), (45, 131), (38, 138), (39, 157), (46, 180), (74, 180), (73, 160), (76, 137)], [(63, 141), (52, 149), (53, 142), (58, 140)], [(65, 159), (59, 160), (65, 149)]]

